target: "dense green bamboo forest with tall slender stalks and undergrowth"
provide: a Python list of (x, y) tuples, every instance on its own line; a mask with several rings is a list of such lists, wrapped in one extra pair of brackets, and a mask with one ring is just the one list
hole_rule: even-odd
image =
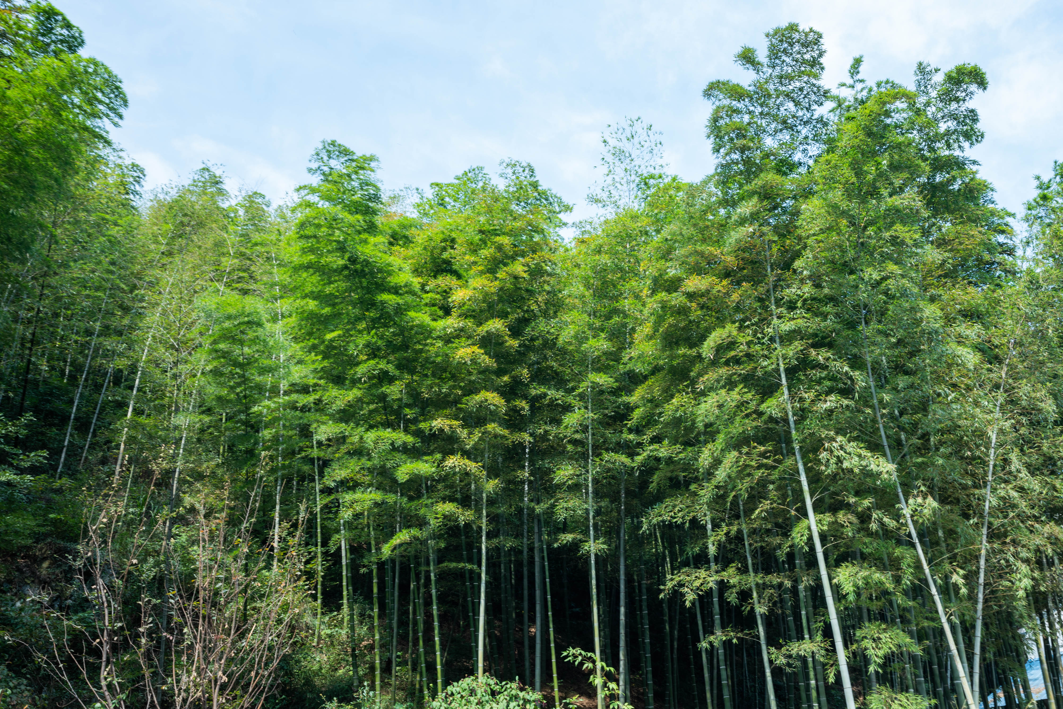
[(1063, 164), (1013, 214), (978, 66), (749, 40), (710, 174), (617, 121), (567, 221), (327, 136), (148, 189), (0, 2), (0, 706), (1063, 707)]

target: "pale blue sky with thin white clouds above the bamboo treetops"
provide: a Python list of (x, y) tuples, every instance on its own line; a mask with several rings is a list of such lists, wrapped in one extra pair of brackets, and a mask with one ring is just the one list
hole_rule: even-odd
[(388, 188), (528, 161), (588, 216), (607, 123), (643, 117), (663, 132), (672, 171), (703, 176), (702, 88), (743, 79), (733, 53), (790, 21), (824, 33), (830, 86), (855, 54), (868, 80), (906, 84), (919, 60), (981, 65), (986, 140), (975, 156), (1002, 205), (1019, 210), (1031, 175), (1063, 158), (1054, 2), (54, 2), (124, 80), (117, 138), (149, 185), (206, 161), (282, 199), (335, 138), (378, 155)]

